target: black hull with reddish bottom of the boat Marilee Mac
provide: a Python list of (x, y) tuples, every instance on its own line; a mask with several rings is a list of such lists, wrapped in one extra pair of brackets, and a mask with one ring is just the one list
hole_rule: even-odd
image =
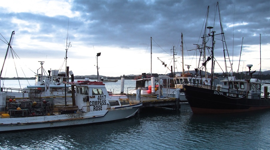
[(237, 113), (270, 108), (269, 99), (249, 99), (247, 95), (184, 86), (193, 113)]

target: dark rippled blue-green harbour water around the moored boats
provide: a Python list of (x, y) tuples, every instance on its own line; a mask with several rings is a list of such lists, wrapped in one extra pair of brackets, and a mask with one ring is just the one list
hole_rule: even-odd
[[(105, 84), (120, 91), (121, 81)], [(125, 80), (124, 93), (134, 86)], [(182, 104), (116, 122), (1, 133), (0, 149), (270, 149), (269, 116), (270, 110), (198, 115)]]

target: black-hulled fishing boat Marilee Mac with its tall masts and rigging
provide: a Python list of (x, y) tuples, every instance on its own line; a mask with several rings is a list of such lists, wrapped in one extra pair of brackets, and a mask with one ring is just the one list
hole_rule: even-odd
[[(209, 6), (208, 6), (209, 9)], [(219, 11), (219, 6), (217, 3), (217, 9)], [(208, 16), (208, 15), (207, 15)], [(219, 11), (220, 16), (220, 11)], [(220, 19), (220, 34), (215, 34), (213, 27), (205, 27), (209, 30), (208, 34), (205, 34), (202, 39), (206, 44), (210, 42), (210, 46), (207, 46), (209, 51), (211, 51), (211, 56), (209, 60), (211, 63), (211, 82), (207, 85), (207, 88), (203, 88), (200, 85), (184, 85), (184, 94), (188, 103), (190, 104), (193, 113), (237, 113), (237, 112), (247, 112), (253, 110), (269, 109), (270, 99), (267, 92), (267, 87), (264, 90), (264, 96), (262, 96), (262, 83), (260, 80), (252, 78), (252, 73), (250, 69), (252, 65), (247, 65), (249, 68), (249, 78), (248, 79), (237, 79), (233, 76), (231, 62), (229, 60), (229, 53), (226, 48), (224, 32), (222, 28), (222, 23)], [(221, 36), (220, 38), (217, 35)], [(208, 39), (208, 40), (205, 40)], [(223, 54), (225, 59), (225, 79), (221, 81), (221, 84), (214, 84), (214, 47), (215, 40), (222, 39)], [(207, 59), (208, 60), (208, 59)], [(203, 63), (202, 65), (205, 65)]]

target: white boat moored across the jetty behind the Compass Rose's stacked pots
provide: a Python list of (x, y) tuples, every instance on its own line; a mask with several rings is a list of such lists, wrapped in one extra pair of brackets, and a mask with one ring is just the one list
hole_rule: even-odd
[[(14, 31), (11, 34), (10, 41), (12, 41)], [(8, 52), (12, 52), (13, 49), (10, 49), (11, 44), (8, 44), (8, 48), (6, 51), (6, 56), (4, 59), (7, 58)], [(70, 43), (67, 43), (66, 47), (66, 56), (65, 56), (65, 63), (67, 64), (67, 50), (71, 47)], [(41, 93), (41, 96), (65, 96), (66, 94), (71, 96), (70, 93), (70, 85), (65, 85), (63, 82), (68, 81), (68, 68), (65, 67), (65, 70), (61, 69), (54, 69), (54, 70), (48, 70), (48, 72), (45, 71), (43, 64), (44, 61), (38, 61), (41, 64), (41, 67), (37, 70), (37, 73), (35, 75), (35, 85), (29, 85), (27, 87), (23, 88), (11, 88), (11, 87), (1, 87), (1, 91), (6, 92), (7, 96), (15, 97), (15, 98), (29, 98), (30, 97), (30, 90), (31, 89), (38, 89), (37, 92)], [(4, 68), (1, 69), (1, 74)], [(39, 72), (40, 71), (40, 72)], [(1, 82), (0, 82), (1, 86)], [(19, 85), (20, 86), (20, 85)]]

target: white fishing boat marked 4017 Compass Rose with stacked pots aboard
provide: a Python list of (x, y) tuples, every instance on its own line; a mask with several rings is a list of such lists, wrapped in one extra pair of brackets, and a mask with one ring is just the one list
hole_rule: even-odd
[(131, 103), (125, 95), (109, 95), (102, 82), (64, 84), (72, 87), (72, 105), (56, 106), (51, 98), (18, 101), (2, 96), (1, 104), (5, 104), (1, 105), (0, 132), (115, 121), (134, 116), (142, 106), (140, 101)]

